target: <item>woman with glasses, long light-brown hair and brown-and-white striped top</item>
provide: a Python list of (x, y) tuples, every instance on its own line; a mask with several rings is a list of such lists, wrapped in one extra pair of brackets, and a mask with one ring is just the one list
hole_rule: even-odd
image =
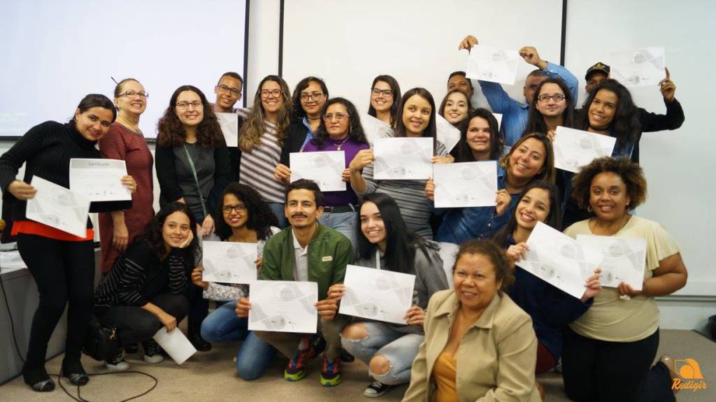
[(239, 182), (252, 186), (269, 203), (279, 227), (286, 227), (288, 222), (284, 216), (284, 183), (274, 177), (274, 171), (281, 162), (281, 147), (293, 109), (289, 86), (276, 75), (266, 76), (258, 83), (250, 111), (238, 109), (243, 117), (238, 135)]

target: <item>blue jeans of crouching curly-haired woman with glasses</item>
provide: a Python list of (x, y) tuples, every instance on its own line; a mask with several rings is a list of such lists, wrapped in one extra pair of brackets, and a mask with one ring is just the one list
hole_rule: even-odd
[(276, 356), (276, 349), (248, 330), (248, 318), (236, 316), (236, 302), (228, 302), (213, 310), (201, 323), (201, 337), (212, 343), (243, 340), (236, 354), (236, 373), (244, 380), (263, 376)]

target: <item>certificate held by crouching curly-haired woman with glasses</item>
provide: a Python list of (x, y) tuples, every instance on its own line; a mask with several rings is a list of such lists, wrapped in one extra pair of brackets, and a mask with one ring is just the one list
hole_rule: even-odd
[(256, 243), (201, 243), (202, 280), (206, 282), (252, 283), (256, 280)]

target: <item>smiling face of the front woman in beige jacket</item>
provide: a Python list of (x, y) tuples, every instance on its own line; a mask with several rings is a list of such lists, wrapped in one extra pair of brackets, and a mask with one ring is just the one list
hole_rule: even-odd
[(465, 253), (455, 262), (453, 273), (455, 295), (460, 308), (481, 311), (490, 305), (502, 286), (495, 278), (495, 267), (482, 254)]

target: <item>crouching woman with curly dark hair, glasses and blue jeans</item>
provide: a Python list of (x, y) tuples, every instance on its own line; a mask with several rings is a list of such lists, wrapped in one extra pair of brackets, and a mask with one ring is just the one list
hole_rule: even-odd
[[(257, 267), (261, 265), (263, 245), (271, 235), (279, 232), (274, 212), (261, 200), (256, 190), (233, 182), (223, 192), (221, 207), (223, 219), (216, 224), (216, 232), (225, 242), (256, 243)], [(236, 355), (236, 372), (244, 380), (261, 377), (271, 363), (276, 349), (248, 330), (248, 319), (236, 316), (236, 300), (248, 298), (248, 285), (222, 284), (202, 280), (203, 268), (191, 274), (192, 282), (203, 288), (208, 300), (222, 302), (201, 323), (201, 337), (209, 342), (226, 343), (243, 340)]]

